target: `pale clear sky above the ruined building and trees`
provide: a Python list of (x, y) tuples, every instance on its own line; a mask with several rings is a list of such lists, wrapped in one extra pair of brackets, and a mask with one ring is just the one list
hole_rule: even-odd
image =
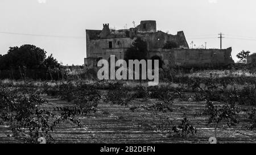
[(207, 42), (207, 48), (220, 48), (218, 33), (224, 33), (222, 48), (232, 47), (237, 61), (242, 50), (256, 52), (255, 6), (255, 0), (1, 0), (0, 54), (34, 44), (64, 65), (82, 65), (85, 29), (101, 30), (103, 23), (123, 29), (133, 21), (156, 20), (158, 30), (184, 31), (188, 44), (200, 47)]

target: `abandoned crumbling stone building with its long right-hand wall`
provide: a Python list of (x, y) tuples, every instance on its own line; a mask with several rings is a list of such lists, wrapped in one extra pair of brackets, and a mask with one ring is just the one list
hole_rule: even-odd
[[(102, 30), (86, 30), (86, 58), (85, 67), (97, 66), (102, 58), (109, 60), (110, 55), (123, 59), (125, 52), (133, 41), (141, 37), (147, 43), (148, 59), (158, 56), (163, 65), (176, 66), (223, 66), (234, 63), (228, 49), (189, 49), (183, 31), (171, 35), (156, 30), (156, 21), (141, 21), (135, 28), (126, 30), (110, 30), (109, 24), (103, 24)], [(167, 41), (177, 44), (175, 49), (163, 49)]]

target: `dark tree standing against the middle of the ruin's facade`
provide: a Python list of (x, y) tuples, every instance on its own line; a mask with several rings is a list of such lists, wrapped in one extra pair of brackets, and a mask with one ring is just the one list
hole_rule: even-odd
[(125, 52), (125, 60), (147, 60), (147, 43), (138, 37)]

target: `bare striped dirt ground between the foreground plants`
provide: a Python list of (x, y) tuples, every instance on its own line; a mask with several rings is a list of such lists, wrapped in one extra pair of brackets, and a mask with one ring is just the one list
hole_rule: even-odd
[[(57, 98), (44, 96), (48, 99), (43, 108), (67, 106), (72, 103)], [(141, 102), (133, 100), (131, 106), (156, 102), (149, 99)], [(56, 143), (209, 143), (209, 137), (214, 136), (213, 128), (206, 125), (207, 118), (193, 115), (205, 106), (204, 102), (179, 102), (175, 100), (172, 112), (135, 111), (129, 107), (100, 103), (97, 112), (80, 116), (82, 128), (71, 122), (65, 122), (56, 127), (52, 136)], [(187, 115), (191, 124), (197, 128), (195, 136), (180, 137), (168, 132), (158, 132), (154, 123), (161, 123), (160, 116), (170, 118), (171, 126), (180, 124), (183, 116)], [(247, 120), (233, 128), (222, 125), (217, 130), (218, 143), (256, 143), (256, 131), (246, 129)], [(170, 128), (171, 130), (171, 128)], [(7, 137), (11, 131), (5, 124), (0, 125), (0, 143), (21, 143), (14, 137)]]

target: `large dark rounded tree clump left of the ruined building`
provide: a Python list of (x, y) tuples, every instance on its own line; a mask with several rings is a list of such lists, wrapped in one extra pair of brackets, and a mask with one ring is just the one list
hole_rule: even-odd
[(6, 55), (0, 56), (0, 78), (60, 79), (65, 73), (61, 72), (59, 62), (46, 53), (35, 45), (10, 47)]

